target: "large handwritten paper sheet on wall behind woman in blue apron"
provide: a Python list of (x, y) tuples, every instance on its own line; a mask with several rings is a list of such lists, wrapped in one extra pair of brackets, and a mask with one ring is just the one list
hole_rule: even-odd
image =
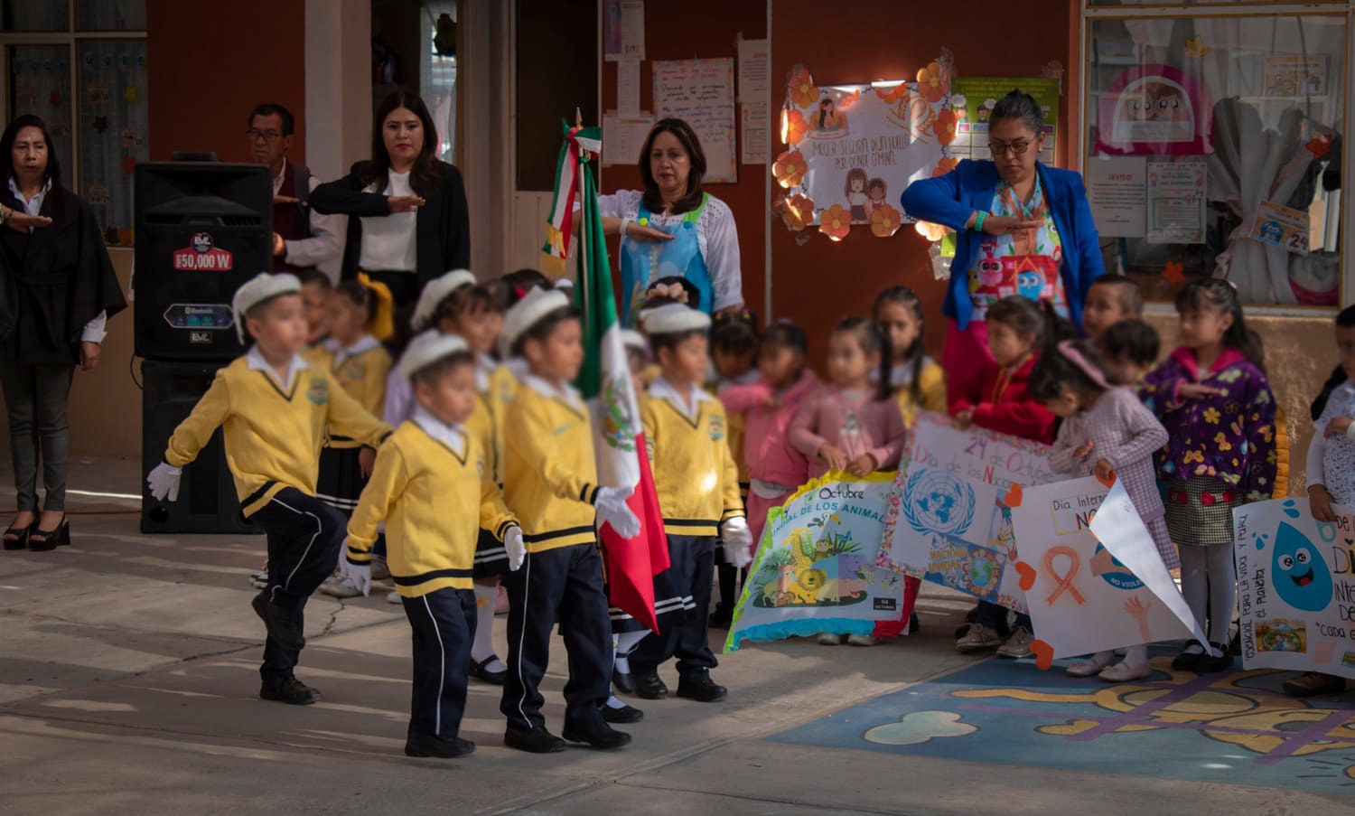
[(734, 61), (653, 62), (654, 115), (686, 119), (706, 153), (706, 183), (738, 180), (734, 153)]

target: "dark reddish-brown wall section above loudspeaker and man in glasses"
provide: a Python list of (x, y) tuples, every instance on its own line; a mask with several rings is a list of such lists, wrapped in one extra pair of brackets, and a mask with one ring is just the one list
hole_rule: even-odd
[(274, 102), (295, 114), (287, 156), (305, 163), (305, 5), (146, 1), (152, 161), (167, 161), (175, 150), (215, 150), (222, 161), (247, 161), (249, 111)]

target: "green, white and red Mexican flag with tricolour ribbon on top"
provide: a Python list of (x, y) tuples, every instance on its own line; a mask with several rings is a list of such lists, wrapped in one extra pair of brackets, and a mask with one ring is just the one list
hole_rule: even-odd
[[(583, 312), (584, 365), (576, 386), (592, 408), (598, 478), (604, 485), (634, 488), (629, 504), (641, 525), (640, 534), (629, 539), (618, 535), (610, 525), (599, 533), (611, 587), (611, 606), (615, 607), (612, 614), (621, 610), (650, 632), (657, 632), (654, 576), (668, 569), (668, 542), (654, 478), (649, 472), (635, 384), (621, 340), (607, 243), (598, 210), (598, 182), (589, 157), (600, 152), (600, 136), (598, 127), (565, 127), (547, 247), (556, 234), (569, 236), (573, 232), (572, 218), (581, 221), (575, 304)], [(577, 214), (572, 211), (572, 206), (561, 205), (561, 197), (569, 188), (579, 191), (581, 206)], [(572, 203), (573, 198), (570, 194), (565, 202)], [(562, 237), (560, 248), (568, 255), (568, 237)]]

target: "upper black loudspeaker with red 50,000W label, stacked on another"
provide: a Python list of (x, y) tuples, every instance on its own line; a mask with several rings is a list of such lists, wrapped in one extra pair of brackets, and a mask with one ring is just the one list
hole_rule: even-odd
[(137, 356), (238, 356), (230, 298), (272, 268), (268, 167), (142, 163), (134, 184)]

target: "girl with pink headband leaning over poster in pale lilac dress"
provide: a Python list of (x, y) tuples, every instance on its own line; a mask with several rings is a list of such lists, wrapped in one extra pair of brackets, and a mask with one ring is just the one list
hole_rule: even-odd
[[(1167, 445), (1167, 430), (1133, 390), (1111, 385), (1091, 344), (1064, 340), (1041, 356), (1030, 375), (1030, 393), (1064, 419), (1049, 454), (1056, 473), (1118, 478), (1129, 492), (1134, 510), (1153, 535), (1157, 554), (1168, 569), (1180, 565), (1167, 533), (1153, 453)], [(1112, 558), (1104, 549), (1092, 560), (1092, 572), (1107, 572)], [(1104, 651), (1068, 667), (1068, 674), (1099, 675), (1111, 683), (1125, 683), (1152, 674), (1148, 644), (1130, 647), (1125, 660), (1114, 664), (1115, 652)]]

